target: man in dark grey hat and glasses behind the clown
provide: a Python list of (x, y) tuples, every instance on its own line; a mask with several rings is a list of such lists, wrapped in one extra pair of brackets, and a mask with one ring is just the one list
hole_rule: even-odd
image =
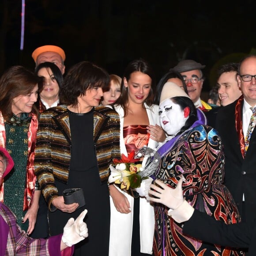
[(203, 88), (203, 68), (205, 68), (205, 65), (195, 60), (181, 60), (173, 69), (183, 76), (187, 85), (188, 95), (192, 102), (194, 102), (196, 108), (208, 111), (212, 107), (200, 98)]

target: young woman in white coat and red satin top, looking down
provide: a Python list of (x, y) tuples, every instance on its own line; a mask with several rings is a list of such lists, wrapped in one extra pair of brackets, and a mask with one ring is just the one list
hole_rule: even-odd
[[(120, 116), (120, 149), (126, 156), (143, 146), (155, 148), (166, 138), (159, 124), (158, 105), (152, 103), (154, 86), (154, 72), (145, 60), (128, 64), (122, 78), (121, 95), (111, 105)], [(134, 198), (116, 184), (110, 184), (109, 191), (109, 256), (151, 255), (153, 207), (145, 198)]]

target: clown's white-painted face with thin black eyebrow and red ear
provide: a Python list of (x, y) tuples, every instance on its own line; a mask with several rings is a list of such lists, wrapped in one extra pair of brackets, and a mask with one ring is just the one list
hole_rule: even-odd
[(168, 135), (175, 135), (181, 131), (188, 114), (181, 110), (180, 105), (167, 98), (159, 105), (160, 124)]

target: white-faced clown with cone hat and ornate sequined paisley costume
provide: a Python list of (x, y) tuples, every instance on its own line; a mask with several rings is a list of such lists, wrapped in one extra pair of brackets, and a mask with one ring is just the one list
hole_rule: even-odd
[[(167, 82), (161, 92), (159, 118), (168, 137), (158, 147), (161, 164), (153, 179), (176, 188), (182, 178), (183, 196), (192, 207), (225, 223), (239, 222), (233, 197), (222, 184), (225, 159), (221, 138), (214, 128), (206, 125), (203, 112), (196, 109), (184, 90)], [(155, 213), (153, 255), (242, 255), (182, 233), (182, 223), (171, 218), (171, 211), (157, 193), (158, 187), (151, 186), (154, 190), (147, 192)]]

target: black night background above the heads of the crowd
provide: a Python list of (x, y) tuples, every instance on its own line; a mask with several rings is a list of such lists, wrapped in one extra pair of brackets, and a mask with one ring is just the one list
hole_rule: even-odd
[(58, 45), (66, 72), (87, 60), (122, 76), (142, 57), (159, 80), (182, 59), (205, 64), (207, 92), (216, 68), (239, 61), (256, 47), (253, 0), (26, 0), (24, 49), (20, 51), (21, 0), (0, 0), (0, 74), (12, 65), (34, 69), (35, 48)]

